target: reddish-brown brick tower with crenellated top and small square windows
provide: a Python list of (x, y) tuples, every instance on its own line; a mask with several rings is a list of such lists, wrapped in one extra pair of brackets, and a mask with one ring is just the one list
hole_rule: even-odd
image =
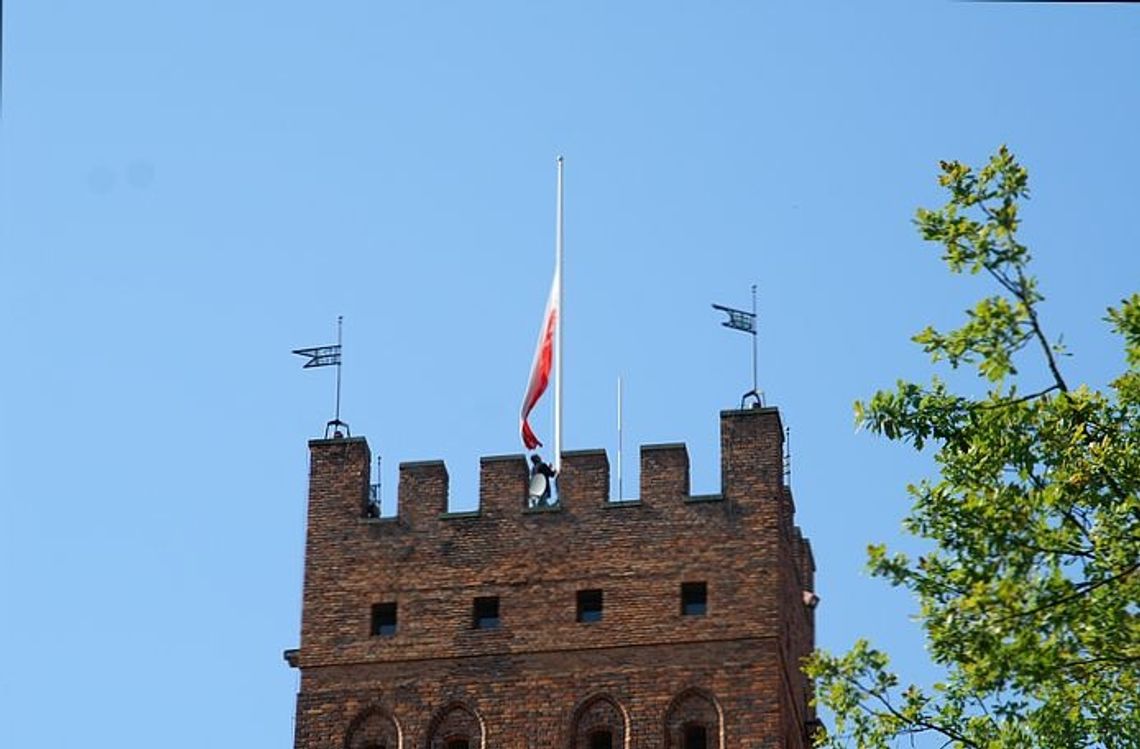
[(296, 749), (809, 746), (814, 563), (775, 408), (720, 414), (707, 496), (684, 445), (653, 445), (636, 500), (584, 450), (528, 508), (512, 455), (480, 461), (474, 512), (424, 462), (370, 518), (367, 442), (309, 448)]

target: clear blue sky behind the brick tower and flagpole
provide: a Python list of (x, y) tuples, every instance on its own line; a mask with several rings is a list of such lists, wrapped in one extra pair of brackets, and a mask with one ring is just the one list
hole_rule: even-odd
[[(1140, 288), (1140, 6), (9, 0), (0, 124), (0, 746), (288, 747), (307, 440), (443, 458), (470, 508), (518, 406), (567, 160), (565, 441), (685, 441), (718, 488), (760, 294), (819, 641), (930, 678), (863, 573), (928, 470), (852, 402), (986, 287), (911, 223), (1005, 143), (1072, 381)], [(1027, 382), (1044, 382), (1026, 361)], [(1034, 380), (1037, 377), (1037, 380)], [(549, 435), (547, 401), (536, 428)], [(632, 490), (629, 488), (633, 488)]]

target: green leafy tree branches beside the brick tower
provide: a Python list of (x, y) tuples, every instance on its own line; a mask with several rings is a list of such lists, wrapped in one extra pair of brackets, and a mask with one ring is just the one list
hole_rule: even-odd
[(1126, 366), (1105, 390), (1073, 385), (1039, 318), (1043, 296), (1018, 239), (1028, 174), (1001, 148), (980, 169), (943, 162), (948, 193), (920, 209), (953, 274), (995, 293), (948, 332), (914, 341), (972, 368), (971, 396), (935, 376), (855, 405), (860, 425), (915, 449), (937, 477), (907, 487), (917, 559), (871, 546), (874, 576), (911, 591), (945, 678), (902, 687), (864, 641), (808, 670), (834, 715), (823, 743), (889, 747), (1140, 747), (1140, 294), (1108, 309)]

